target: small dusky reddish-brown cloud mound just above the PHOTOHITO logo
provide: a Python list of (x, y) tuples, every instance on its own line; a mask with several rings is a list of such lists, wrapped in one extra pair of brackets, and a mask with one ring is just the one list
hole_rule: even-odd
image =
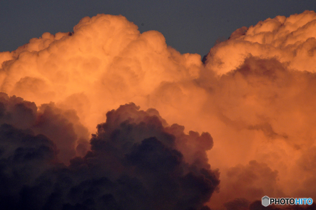
[[(247, 209), (249, 201), (261, 200), (263, 195), (270, 197), (284, 197), (278, 186), (278, 171), (272, 171), (265, 163), (251, 160), (247, 165), (237, 165), (221, 175), (226, 180), (220, 185), (220, 193), (212, 197), (212, 203), (228, 201), (224, 206)], [(245, 200), (247, 198), (247, 200)]]

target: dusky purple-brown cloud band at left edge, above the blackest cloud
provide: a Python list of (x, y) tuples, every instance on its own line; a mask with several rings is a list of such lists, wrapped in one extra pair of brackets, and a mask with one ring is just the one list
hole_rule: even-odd
[(59, 109), (54, 103), (42, 104), (38, 109), (34, 102), (0, 93), (0, 123), (50, 138), (64, 163), (88, 150), (88, 129), (79, 122), (76, 112)]

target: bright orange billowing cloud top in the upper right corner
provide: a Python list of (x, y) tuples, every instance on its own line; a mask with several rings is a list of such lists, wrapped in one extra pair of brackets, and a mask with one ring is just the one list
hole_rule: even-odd
[(206, 66), (222, 75), (252, 55), (262, 59), (275, 57), (290, 69), (315, 72), (315, 24), (315, 12), (305, 11), (288, 18), (268, 18), (249, 28), (242, 27), (210, 50)]

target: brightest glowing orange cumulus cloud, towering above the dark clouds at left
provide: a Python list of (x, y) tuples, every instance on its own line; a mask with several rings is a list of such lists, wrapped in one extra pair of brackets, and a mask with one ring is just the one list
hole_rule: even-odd
[(140, 34), (125, 17), (112, 15), (85, 17), (73, 33), (46, 32), (1, 53), (0, 62), (1, 91), (76, 108), (90, 132), (105, 120), (100, 112), (131, 101), (150, 108), (149, 94), (161, 81), (197, 78), (201, 67), (200, 55), (181, 55), (160, 32)]

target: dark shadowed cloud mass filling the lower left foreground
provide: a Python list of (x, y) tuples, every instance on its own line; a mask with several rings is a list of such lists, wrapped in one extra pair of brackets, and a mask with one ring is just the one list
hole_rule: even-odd
[[(209, 133), (185, 134), (155, 109), (125, 104), (97, 126), (91, 150), (66, 166), (58, 151), (74, 148), (73, 113), (53, 104), (37, 111), (34, 103), (5, 95), (2, 101), (11, 125), (0, 127), (1, 209), (209, 209), (204, 203), (219, 184), (207, 163)], [(24, 124), (15, 123), (13, 116), (23, 122), (27, 114)]]

